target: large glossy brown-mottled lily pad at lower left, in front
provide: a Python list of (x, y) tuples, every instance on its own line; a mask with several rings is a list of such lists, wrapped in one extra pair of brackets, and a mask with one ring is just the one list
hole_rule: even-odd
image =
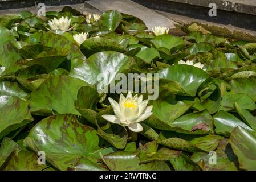
[(97, 131), (80, 124), (75, 115), (54, 115), (37, 123), (25, 143), (35, 152), (44, 151), (46, 160), (60, 170), (104, 169), (97, 164)]

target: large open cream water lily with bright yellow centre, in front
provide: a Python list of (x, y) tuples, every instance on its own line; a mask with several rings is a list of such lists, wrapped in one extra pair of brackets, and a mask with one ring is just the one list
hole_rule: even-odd
[(148, 100), (143, 101), (143, 96), (138, 95), (132, 97), (132, 93), (129, 92), (125, 98), (123, 94), (120, 95), (119, 104), (112, 98), (108, 98), (115, 115), (102, 115), (104, 119), (109, 122), (116, 123), (122, 126), (128, 126), (128, 128), (134, 132), (140, 132), (143, 127), (139, 122), (149, 118), (153, 113), (153, 106), (148, 106)]

